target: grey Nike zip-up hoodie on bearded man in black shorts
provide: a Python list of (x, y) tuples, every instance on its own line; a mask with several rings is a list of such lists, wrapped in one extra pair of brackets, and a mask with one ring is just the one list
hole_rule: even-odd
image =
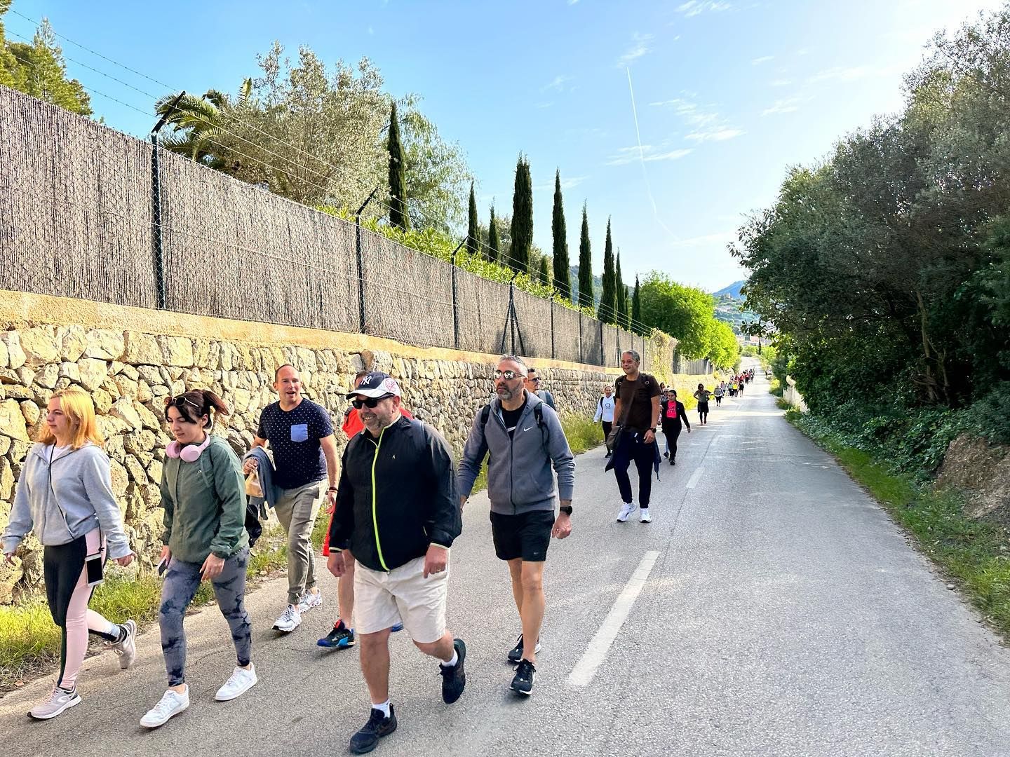
[[(558, 496), (571, 500), (575, 489), (575, 456), (565, 438), (558, 414), (536, 395), (526, 392), (526, 407), (509, 438), (501, 415), (501, 400), (491, 401), (487, 425), (481, 423), (482, 411), (474, 418), (467, 446), (460, 460), (460, 494), (470, 497), (474, 481), (488, 459), (488, 499), (491, 512), (519, 515), (554, 509), (553, 463), (558, 473)], [(542, 407), (542, 427), (536, 423), (533, 408)]]

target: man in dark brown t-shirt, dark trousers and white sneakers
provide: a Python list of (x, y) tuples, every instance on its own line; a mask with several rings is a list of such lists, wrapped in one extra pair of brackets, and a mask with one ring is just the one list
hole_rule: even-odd
[[(620, 438), (614, 446), (614, 454), (607, 469), (614, 469), (621, 506), (617, 522), (624, 523), (628, 516), (640, 508), (641, 523), (651, 523), (648, 512), (652, 493), (652, 468), (659, 468), (660, 447), (655, 443), (655, 430), (660, 423), (660, 383), (648, 373), (638, 370), (641, 357), (634, 350), (621, 354), (621, 369), (624, 375), (614, 383), (617, 404), (614, 418), (621, 426)], [(638, 503), (631, 493), (628, 466), (634, 462), (638, 471)]]

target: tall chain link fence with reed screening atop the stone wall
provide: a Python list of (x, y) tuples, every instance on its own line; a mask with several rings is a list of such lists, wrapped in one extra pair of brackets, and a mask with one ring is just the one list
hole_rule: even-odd
[[(0, 289), (593, 365), (645, 339), (0, 87)], [(650, 369), (643, 364), (643, 369)]]

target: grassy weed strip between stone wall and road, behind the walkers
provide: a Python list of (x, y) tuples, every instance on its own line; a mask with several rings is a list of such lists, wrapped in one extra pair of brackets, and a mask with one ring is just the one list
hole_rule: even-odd
[[(562, 416), (562, 426), (572, 451), (585, 452), (603, 441), (600, 424), (575, 414)], [(487, 468), (481, 471), (474, 492), (487, 488)], [(329, 526), (325, 512), (316, 519), (312, 544), (318, 552)], [(249, 557), (249, 578), (261, 578), (286, 567), (288, 548), (280, 526), (266, 529)], [(113, 622), (132, 618), (142, 628), (158, 620), (162, 581), (150, 573), (106, 566), (108, 577), (97, 587), (90, 607)], [(254, 584), (255, 586), (255, 584)], [(254, 586), (250, 586), (254, 587)], [(214, 599), (210, 584), (202, 582), (191, 607), (198, 610)], [(93, 649), (100, 649), (95, 644)], [(44, 673), (60, 661), (60, 630), (53, 624), (42, 597), (17, 606), (0, 606), (0, 692), (25, 678)]]

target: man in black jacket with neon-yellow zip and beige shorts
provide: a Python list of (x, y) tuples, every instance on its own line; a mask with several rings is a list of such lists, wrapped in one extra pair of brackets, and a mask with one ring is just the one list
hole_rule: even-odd
[(389, 698), (390, 627), (402, 621), (414, 644), (442, 661), (442, 699), (460, 698), (467, 645), (445, 630), (448, 551), (463, 530), (460, 495), (445, 440), (400, 414), (400, 387), (366, 375), (352, 393), (365, 430), (343, 451), (327, 567), (339, 577), (343, 550), (358, 561), (355, 605), (369, 722), (350, 751), (369, 752), (396, 730)]

